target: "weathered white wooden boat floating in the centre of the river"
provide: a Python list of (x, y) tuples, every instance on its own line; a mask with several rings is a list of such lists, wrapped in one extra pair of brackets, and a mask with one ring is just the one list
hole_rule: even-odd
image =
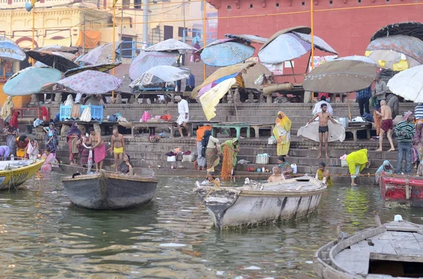
[(280, 219), (314, 212), (326, 185), (308, 176), (243, 187), (197, 186), (217, 229)]

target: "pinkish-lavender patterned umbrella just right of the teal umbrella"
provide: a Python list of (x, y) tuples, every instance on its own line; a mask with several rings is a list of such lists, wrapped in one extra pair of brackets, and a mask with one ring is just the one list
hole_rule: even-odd
[(66, 77), (57, 82), (57, 84), (61, 84), (68, 89), (87, 95), (115, 91), (122, 83), (121, 79), (111, 74), (92, 70), (73, 74), (71, 77)]

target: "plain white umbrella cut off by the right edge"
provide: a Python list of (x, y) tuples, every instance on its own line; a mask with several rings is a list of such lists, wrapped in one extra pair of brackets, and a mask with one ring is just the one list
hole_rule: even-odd
[(388, 87), (405, 100), (423, 103), (423, 65), (399, 72), (389, 79)]

